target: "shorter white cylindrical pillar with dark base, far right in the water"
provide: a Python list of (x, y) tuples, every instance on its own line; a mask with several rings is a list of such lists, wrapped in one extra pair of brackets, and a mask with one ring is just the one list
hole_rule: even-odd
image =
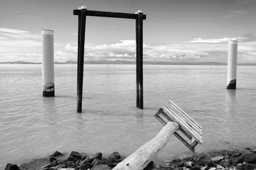
[(237, 40), (228, 42), (228, 76), (227, 89), (236, 89)]

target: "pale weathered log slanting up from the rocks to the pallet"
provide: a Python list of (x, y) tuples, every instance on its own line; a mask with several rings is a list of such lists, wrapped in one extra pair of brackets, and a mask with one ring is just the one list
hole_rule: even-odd
[(113, 170), (144, 169), (168, 143), (170, 136), (178, 130), (179, 125), (177, 123), (168, 122), (155, 138), (145, 143), (129, 157), (117, 164)]

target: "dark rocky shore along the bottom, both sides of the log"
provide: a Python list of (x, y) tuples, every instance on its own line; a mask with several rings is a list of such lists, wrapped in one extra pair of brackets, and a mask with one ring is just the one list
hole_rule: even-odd
[[(4, 170), (108, 170), (113, 169), (122, 160), (118, 152), (104, 158), (102, 153), (88, 155), (72, 152), (67, 157), (57, 151), (47, 158), (31, 160), (19, 166), (7, 164)], [(256, 148), (195, 153), (191, 157), (174, 159), (164, 164), (150, 162), (145, 169), (256, 170)]]

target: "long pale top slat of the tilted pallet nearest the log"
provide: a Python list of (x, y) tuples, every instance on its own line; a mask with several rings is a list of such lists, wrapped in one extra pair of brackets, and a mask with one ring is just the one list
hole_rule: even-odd
[[(167, 108), (166, 106), (163, 107), (164, 112), (172, 112)], [(173, 112), (172, 112), (173, 113)], [(202, 142), (202, 139), (200, 138), (199, 134), (196, 134), (191, 127), (182, 120), (182, 118), (177, 117), (175, 114), (168, 114), (175, 122), (179, 122), (180, 127), (187, 132), (190, 136), (194, 137), (196, 140), (198, 140), (200, 143)]]

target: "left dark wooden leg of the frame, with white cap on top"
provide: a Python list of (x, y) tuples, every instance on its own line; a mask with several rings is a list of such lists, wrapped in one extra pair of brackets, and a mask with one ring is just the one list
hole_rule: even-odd
[(81, 6), (81, 18), (80, 18), (80, 36), (78, 55), (78, 80), (77, 80), (77, 112), (82, 112), (82, 100), (83, 100), (83, 72), (84, 72), (84, 36), (85, 36), (85, 22), (86, 22), (86, 7)]

